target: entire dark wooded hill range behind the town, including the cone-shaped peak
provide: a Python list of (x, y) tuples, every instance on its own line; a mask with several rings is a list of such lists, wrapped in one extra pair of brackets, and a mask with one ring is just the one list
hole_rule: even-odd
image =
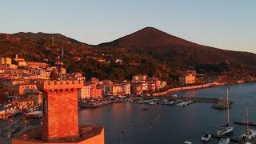
[[(148, 74), (177, 83), (178, 75), (188, 66), (200, 74), (230, 74), (238, 79), (256, 71), (256, 54), (202, 46), (152, 27), (98, 46), (62, 34), (0, 34), (0, 57), (21, 54), (28, 61), (48, 59), (53, 64), (62, 46), (68, 72), (81, 72), (87, 79), (120, 80), (130, 79), (134, 74)], [(122, 62), (115, 62), (116, 59)]]

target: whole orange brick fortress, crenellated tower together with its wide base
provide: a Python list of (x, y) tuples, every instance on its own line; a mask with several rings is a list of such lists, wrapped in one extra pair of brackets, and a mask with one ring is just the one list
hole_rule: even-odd
[(13, 144), (104, 144), (102, 126), (79, 126), (78, 90), (83, 81), (38, 81), (43, 93), (42, 127), (26, 130)]

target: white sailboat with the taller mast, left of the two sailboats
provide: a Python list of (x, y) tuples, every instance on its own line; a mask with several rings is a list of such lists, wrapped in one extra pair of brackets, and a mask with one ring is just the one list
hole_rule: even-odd
[(229, 89), (226, 89), (226, 106), (227, 106), (227, 124), (225, 126), (221, 126), (217, 130), (218, 136), (223, 136), (226, 134), (230, 134), (234, 127), (230, 126), (230, 101), (229, 101)]

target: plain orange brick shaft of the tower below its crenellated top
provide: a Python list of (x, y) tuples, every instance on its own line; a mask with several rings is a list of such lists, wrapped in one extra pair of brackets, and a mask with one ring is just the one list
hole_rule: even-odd
[(78, 135), (78, 91), (48, 93), (44, 139)]

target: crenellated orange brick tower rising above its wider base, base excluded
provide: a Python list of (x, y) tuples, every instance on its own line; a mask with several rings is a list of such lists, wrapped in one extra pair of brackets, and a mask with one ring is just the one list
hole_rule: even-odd
[(42, 81), (43, 140), (78, 136), (78, 90), (83, 81)]

